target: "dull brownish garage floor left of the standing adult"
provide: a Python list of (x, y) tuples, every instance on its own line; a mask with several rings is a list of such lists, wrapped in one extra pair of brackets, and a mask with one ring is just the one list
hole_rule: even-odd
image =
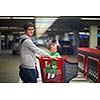
[(19, 56), (13, 56), (10, 50), (0, 51), (0, 83), (16, 83), (18, 76)]

